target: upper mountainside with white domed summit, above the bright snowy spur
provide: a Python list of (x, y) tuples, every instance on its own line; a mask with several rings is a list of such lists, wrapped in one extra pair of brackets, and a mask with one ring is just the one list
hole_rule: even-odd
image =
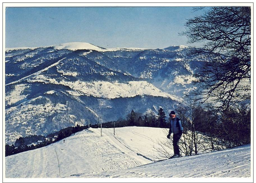
[[(98, 52), (96, 48), (106, 51)], [(164, 92), (182, 97), (184, 92), (192, 87), (190, 83), (195, 80), (192, 73), (206, 58), (187, 56), (189, 47), (171, 48), (175, 50), (169, 48), (169, 50), (141, 49), (132, 52), (127, 49), (107, 51), (88, 43), (66, 43), (29, 51), (28, 49), (8, 50), (6, 51), (6, 84), (21, 79), (29, 75), (28, 73), (35, 73), (36, 68), (43, 69), (42, 67), (52, 59), (65, 56), (69, 58), (58, 64), (57, 71), (50, 69), (45, 73), (57, 74), (51, 78), (60, 78), (60, 73), (69, 80), (73, 79), (72, 76), (90, 81), (105, 79), (120, 81), (123, 78), (146, 80)]]

